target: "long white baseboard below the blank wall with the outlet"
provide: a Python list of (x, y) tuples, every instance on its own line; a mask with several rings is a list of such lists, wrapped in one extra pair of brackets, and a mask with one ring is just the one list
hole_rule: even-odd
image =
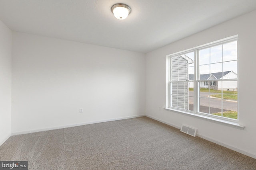
[(79, 124), (73, 124), (73, 125), (50, 127), (50, 128), (45, 128), (45, 129), (34, 129), (34, 130), (31, 130), (31, 131), (20, 131), (20, 132), (12, 133), (12, 136), (13, 135), (22, 135), (22, 134), (27, 134), (27, 133), (34, 133), (34, 132), (50, 131), (50, 130), (55, 130), (55, 129), (63, 129), (63, 128), (67, 128), (67, 127), (76, 127), (76, 126), (82, 126), (82, 125), (90, 125), (90, 124), (94, 124), (94, 123), (102, 123), (102, 122), (107, 122), (107, 121), (131, 119), (131, 118), (143, 117), (143, 116), (146, 116), (146, 115), (135, 115), (135, 116), (119, 117), (119, 118), (115, 118), (115, 119), (104, 119), (104, 120), (100, 120), (100, 121), (92, 121), (92, 122), (79, 123)]

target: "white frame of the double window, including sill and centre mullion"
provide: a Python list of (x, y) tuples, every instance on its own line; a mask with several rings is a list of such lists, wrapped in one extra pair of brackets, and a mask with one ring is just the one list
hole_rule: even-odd
[[(200, 82), (205, 82), (206, 80), (199, 80), (199, 72), (198, 72), (198, 68), (199, 68), (199, 62), (198, 61), (198, 53), (199, 53), (199, 50), (201, 49), (205, 49), (205, 48), (208, 48), (208, 47), (212, 47), (212, 46), (216, 46), (216, 45), (220, 45), (220, 44), (223, 44), (223, 43), (228, 43), (228, 42), (231, 42), (231, 41), (237, 41), (238, 42), (238, 35), (235, 35), (235, 36), (232, 36), (232, 37), (228, 37), (228, 38), (225, 38), (225, 39), (221, 39), (221, 40), (218, 40), (218, 41), (214, 41), (212, 43), (208, 43), (208, 44), (205, 44), (205, 45), (201, 45), (201, 46), (198, 46), (198, 47), (194, 47), (194, 48), (191, 48), (191, 49), (187, 49), (187, 50), (184, 50), (184, 51), (180, 51), (178, 53), (173, 53), (173, 54), (170, 54), (170, 55), (167, 55), (166, 56), (166, 107), (164, 109), (166, 110), (171, 110), (171, 111), (175, 111), (177, 113), (182, 113), (182, 114), (185, 114), (185, 115), (190, 115), (190, 116), (193, 116), (193, 117), (199, 117), (199, 118), (203, 118), (203, 119), (206, 119), (206, 120), (210, 120), (210, 121), (214, 121), (214, 122), (218, 122), (218, 123), (222, 123), (224, 125), (228, 125), (228, 126), (231, 126), (231, 127), (236, 127), (238, 129), (244, 129), (244, 126), (242, 125), (239, 125), (239, 113), (238, 113), (238, 118), (237, 120), (235, 119), (230, 119), (228, 117), (218, 117), (218, 116), (213, 116), (213, 115), (207, 115), (207, 114), (204, 114), (204, 113), (200, 113), (198, 111), (199, 109), (199, 103), (198, 103), (198, 96), (199, 96), (199, 92), (198, 92), (198, 86), (199, 86), (199, 83)], [(171, 83), (170, 83), (170, 78), (171, 78), (171, 75), (170, 75), (170, 69), (171, 69), (171, 57), (174, 57), (174, 56), (178, 56), (178, 55), (183, 55), (184, 53), (190, 53), (190, 52), (193, 52), (194, 51), (194, 80), (187, 80), (187, 81), (184, 81), (184, 82), (194, 82), (194, 111), (190, 111), (190, 110), (185, 110), (185, 109), (179, 109), (177, 107), (170, 107), (169, 104), (170, 104), (170, 86), (171, 86)], [(238, 49), (237, 49), (238, 51)], [(238, 55), (238, 53), (237, 53)], [(237, 57), (237, 64), (238, 64), (238, 57)], [(237, 70), (238, 71), (238, 70)], [(224, 82), (224, 81), (232, 81), (232, 79), (228, 79), (228, 80), (224, 80), (222, 79), (221, 81)], [(220, 81), (220, 82), (221, 82)], [(236, 79), (236, 81), (238, 82), (238, 77)], [(180, 81), (180, 82), (183, 82), (183, 81)], [(208, 85), (211, 85), (212, 83), (209, 82)], [(239, 91), (238, 91), (239, 93)], [(239, 94), (238, 94), (239, 96)], [(239, 109), (238, 109), (239, 111)]]

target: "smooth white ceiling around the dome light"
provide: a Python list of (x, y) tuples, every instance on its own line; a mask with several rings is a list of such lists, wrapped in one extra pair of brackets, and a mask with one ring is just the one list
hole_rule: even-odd
[[(116, 3), (132, 8), (125, 20)], [(142, 53), (253, 10), (256, 0), (0, 0), (13, 31)]]

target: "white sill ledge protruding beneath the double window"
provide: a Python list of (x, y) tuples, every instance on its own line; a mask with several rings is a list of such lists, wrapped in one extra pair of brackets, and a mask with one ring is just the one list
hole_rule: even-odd
[(222, 124), (222, 125), (227, 125), (227, 126), (230, 126), (230, 127), (234, 127), (234, 128), (237, 128), (237, 129), (244, 130), (244, 126), (239, 125), (239, 123), (237, 123), (237, 122), (222, 120), (222, 119), (218, 119), (218, 118), (214, 118), (214, 117), (209, 117), (209, 116), (206, 116), (206, 115), (200, 115), (200, 114), (196, 114), (196, 113), (190, 113), (190, 112), (187, 112), (187, 111), (181, 111), (181, 110), (171, 109), (171, 108), (166, 108), (166, 107), (164, 107), (164, 109), (169, 110), (169, 111), (175, 111), (176, 113), (182, 113), (184, 115), (188, 115), (188, 116), (192, 116), (192, 117), (196, 117), (196, 118), (200, 118), (200, 119), (204, 119), (204, 120), (212, 121), (212, 122), (219, 123), (219, 124)]

